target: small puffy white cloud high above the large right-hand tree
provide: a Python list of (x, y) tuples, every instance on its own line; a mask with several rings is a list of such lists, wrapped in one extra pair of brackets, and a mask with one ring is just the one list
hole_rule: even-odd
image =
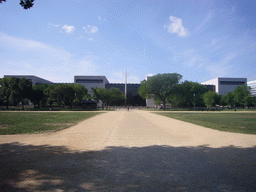
[[(169, 33), (177, 33), (180, 37), (186, 37), (189, 35), (188, 29), (182, 26), (182, 19), (170, 16), (172, 23), (167, 26)], [(164, 26), (166, 28), (166, 26)]]

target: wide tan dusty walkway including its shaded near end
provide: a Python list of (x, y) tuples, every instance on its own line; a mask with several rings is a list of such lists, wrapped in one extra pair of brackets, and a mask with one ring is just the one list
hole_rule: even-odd
[(256, 136), (147, 111), (0, 136), (0, 191), (254, 191)]

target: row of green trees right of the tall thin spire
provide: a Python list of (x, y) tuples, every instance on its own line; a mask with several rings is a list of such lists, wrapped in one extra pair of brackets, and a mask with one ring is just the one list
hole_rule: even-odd
[(238, 86), (233, 92), (222, 96), (209, 91), (205, 85), (197, 82), (180, 82), (182, 75), (177, 73), (157, 74), (141, 82), (139, 95), (144, 98), (153, 98), (155, 104), (169, 103), (172, 107), (253, 107), (256, 106), (256, 97), (250, 95), (250, 88), (246, 85)]

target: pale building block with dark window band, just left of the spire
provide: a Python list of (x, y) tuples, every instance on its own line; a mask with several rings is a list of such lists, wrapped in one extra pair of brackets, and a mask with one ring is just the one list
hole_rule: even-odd
[(108, 80), (105, 76), (75, 76), (74, 77), (75, 84), (82, 84), (88, 92), (92, 95), (93, 92), (91, 87), (99, 87), (106, 88), (106, 84), (108, 84)]

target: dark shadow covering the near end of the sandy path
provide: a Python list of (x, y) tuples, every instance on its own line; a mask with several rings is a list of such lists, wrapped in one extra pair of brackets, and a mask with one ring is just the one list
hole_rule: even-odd
[(255, 191), (256, 147), (0, 145), (0, 191)]

